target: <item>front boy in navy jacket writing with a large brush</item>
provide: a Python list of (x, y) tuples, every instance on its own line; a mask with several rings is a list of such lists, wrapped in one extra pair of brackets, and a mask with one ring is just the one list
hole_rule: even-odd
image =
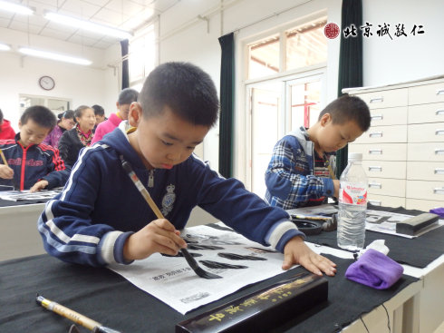
[[(217, 91), (207, 73), (192, 64), (159, 65), (139, 102), (131, 103), (131, 129), (116, 129), (84, 149), (63, 192), (46, 204), (38, 220), (45, 250), (91, 266), (130, 264), (155, 252), (176, 255), (187, 247), (179, 230), (199, 206), (248, 239), (284, 252), (283, 269), (301, 264), (334, 275), (333, 262), (306, 246), (286, 211), (268, 206), (192, 154), (217, 113)], [(168, 220), (156, 218), (120, 156)]]

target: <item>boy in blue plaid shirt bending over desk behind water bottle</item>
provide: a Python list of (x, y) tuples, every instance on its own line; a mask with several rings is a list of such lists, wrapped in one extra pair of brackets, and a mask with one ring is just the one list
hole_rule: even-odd
[(285, 135), (265, 171), (265, 201), (290, 210), (337, 198), (339, 181), (329, 178), (330, 157), (367, 131), (370, 122), (367, 104), (344, 95), (328, 104), (308, 130)]

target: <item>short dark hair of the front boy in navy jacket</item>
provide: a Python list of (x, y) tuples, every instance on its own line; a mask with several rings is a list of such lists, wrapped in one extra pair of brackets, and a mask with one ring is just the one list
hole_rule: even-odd
[(145, 80), (139, 103), (145, 117), (162, 113), (168, 105), (181, 119), (208, 127), (217, 122), (219, 110), (211, 77), (189, 63), (160, 64)]

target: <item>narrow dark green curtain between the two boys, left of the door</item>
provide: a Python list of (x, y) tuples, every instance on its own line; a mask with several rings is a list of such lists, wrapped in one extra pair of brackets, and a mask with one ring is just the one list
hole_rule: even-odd
[(233, 113), (235, 103), (234, 34), (219, 37), (222, 49), (220, 65), (219, 173), (233, 175)]

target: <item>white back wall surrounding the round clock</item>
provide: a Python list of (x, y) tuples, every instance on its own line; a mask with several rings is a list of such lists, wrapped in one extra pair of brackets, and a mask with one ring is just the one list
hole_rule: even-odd
[[(104, 63), (105, 52), (81, 45), (55, 41), (52, 38), (15, 32), (0, 28), (1, 41), (12, 45), (9, 52), (0, 52), (0, 109), (5, 119), (11, 121), (18, 131), (20, 119), (19, 94), (51, 96), (72, 100), (72, 108), (81, 104), (101, 104), (105, 110), (115, 111), (115, 101), (107, 98), (107, 92), (114, 86), (116, 78), (112, 69)], [(30, 42), (28, 42), (30, 41)], [(15, 52), (19, 46), (30, 45), (37, 49), (92, 60), (91, 66), (65, 64), (51, 60), (23, 56)], [(52, 76), (55, 87), (51, 91), (40, 88), (38, 79), (43, 75)], [(110, 79), (111, 76), (111, 79)], [(114, 83), (110, 82), (113, 81)], [(104, 87), (108, 89), (104, 89)], [(118, 91), (116, 91), (117, 93)]]

